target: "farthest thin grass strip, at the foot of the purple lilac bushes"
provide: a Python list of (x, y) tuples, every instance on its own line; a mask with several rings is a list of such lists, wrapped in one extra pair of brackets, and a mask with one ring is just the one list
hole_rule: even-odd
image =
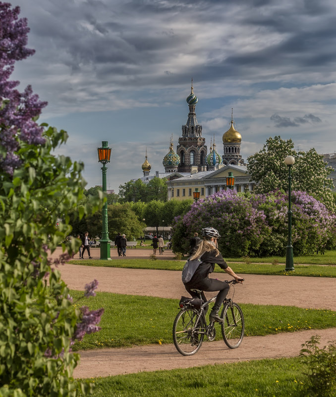
[[(240, 258), (241, 259), (241, 258)], [(242, 259), (241, 259), (242, 260)], [(269, 260), (269, 258), (268, 258)], [(238, 259), (237, 259), (238, 261)], [(274, 276), (309, 276), (309, 277), (336, 277), (336, 266), (295, 265), (295, 271), (286, 272), (284, 264), (272, 263), (236, 263), (227, 261), (234, 272), (238, 274), (262, 274)], [(185, 260), (151, 260), (151, 259), (123, 259), (123, 260), (70, 260), (69, 263), (85, 266), (119, 267), (129, 269), (154, 269), (182, 271)], [(218, 273), (224, 273), (219, 266), (215, 267)]]

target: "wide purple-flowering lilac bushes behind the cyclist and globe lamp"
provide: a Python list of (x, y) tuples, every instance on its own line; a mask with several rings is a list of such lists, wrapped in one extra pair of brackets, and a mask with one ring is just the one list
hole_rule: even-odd
[[(187, 253), (189, 239), (205, 226), (219, 230), (224, 256), (284, 255), (288, 236), (288, 195), (218, 192), (192, 204), (175, 219), (173, 246)], [(324, 252), (335, 246), (336, 216), (304, 192), (292, 192), (292, 244), (295, 255)]]

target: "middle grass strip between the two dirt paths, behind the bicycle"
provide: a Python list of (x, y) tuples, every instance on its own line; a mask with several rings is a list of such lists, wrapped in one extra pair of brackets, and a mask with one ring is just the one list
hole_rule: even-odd
[[(83, 295), (71, 291), (76, 298)], [(85, 335), (73, 350), (100, 347), (130, 347), (134, 345), (172, 343), (171, 329), (178, 313), (179, 299), (97, 293), (95, 298), (83, 298), (79, 306), (105, 308), (96, 334)], [(323, 329), (336, 326), (336, 312), (303, 309), (295, 306), (241, 304), (245, 317), (245, 335), (268, 335), (304, 329)], [(218, 325), (217, 339), (221, 331)]]

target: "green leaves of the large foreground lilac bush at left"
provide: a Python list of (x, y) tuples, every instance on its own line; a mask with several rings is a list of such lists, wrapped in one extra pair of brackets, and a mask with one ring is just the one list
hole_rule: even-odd
[[(44, 137), (44, 145), (20, 142), (17, 155), (22, 165), (12, 177), (0, 175), (0, 395), (4, 396), (76, 396), (71, 374), (78, 355), (71, 352), (70, 342), (80, 311), (69, 310), (68, 289), (56, 264), (51, 269), (47, 248), (53, 252), (71, 232), (66, 214), (83, 198), (83, 164), (51, 154), (66, 141), (66, 132), (50, 127)], [(92, 200), (79, 216), (98, 204)], [(65, 214), (64, 223), (56, 228), (59, 213)], [(73, 239), (68, 248), (77, 251), (78, 245)]]

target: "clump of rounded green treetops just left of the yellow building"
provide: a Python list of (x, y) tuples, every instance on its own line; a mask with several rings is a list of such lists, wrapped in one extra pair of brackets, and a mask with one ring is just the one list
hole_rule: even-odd
[(147, 184), (143, 183), (141, 179), (137, 179), (136, 181), (128, 181), (124, 185), (120, 185), (119, 197), (123, 202), (167, 201), (167, 191), (168, 187), (165, 178), (154, 177)]

